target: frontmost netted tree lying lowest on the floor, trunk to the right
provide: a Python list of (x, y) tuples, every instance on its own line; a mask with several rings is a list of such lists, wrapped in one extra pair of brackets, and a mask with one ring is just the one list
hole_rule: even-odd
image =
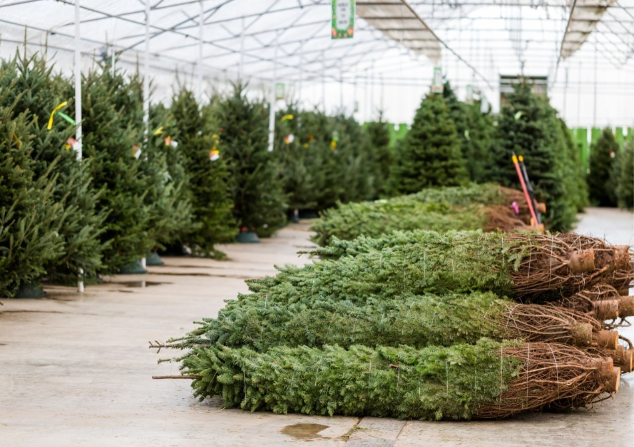
[[(618, 390), (621, 370), (557, 343), (451, 347), (196, 348), (184, 360), (195, 395), (224, 406), (320, 415), (424, 420), (501, 418), (571, 408)], [(562, 386), (562, 384), (566, 386)]]

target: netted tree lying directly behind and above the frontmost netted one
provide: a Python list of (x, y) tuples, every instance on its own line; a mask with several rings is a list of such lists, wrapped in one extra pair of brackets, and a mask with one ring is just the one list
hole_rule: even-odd
[(615, 349), (618, 333), (603, 330), (596, 316), (604, 316), (600, 306), (581, 313), (517, 304), (491, 292), (370, 295), (344, 301), (314, 294), (289, 304), (242, 295), (238, 301), (228, 301), (216, 319), (199, 323), (199, 328), (167, 347), (219, 343), (264, 352), (282, 345), (451, 346), (489, 337)]

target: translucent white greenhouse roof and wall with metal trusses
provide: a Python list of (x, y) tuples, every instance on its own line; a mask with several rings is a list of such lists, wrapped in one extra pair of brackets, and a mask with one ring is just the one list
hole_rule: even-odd
[[(547, 75), (571, 126), (634, 126), (634, 0), (357, 0), (354, 38), (330, 38), (330, 0), (148, 0), (152, 101), (273, 78), (305, 107), (410, 122), (434, 65), (497, 108), (500, 75)], [(79, 0), (81, 67), (143, 70), (145, 0)], [(26, 42), (72, 71), (74, 0), (0, 0), (0, 57)], [(365, 17), (365, 18), (364, 18)], [(202, 21), (201, 21), (202, 18)], [(202, 23), (202, 26), (201, 26)]]

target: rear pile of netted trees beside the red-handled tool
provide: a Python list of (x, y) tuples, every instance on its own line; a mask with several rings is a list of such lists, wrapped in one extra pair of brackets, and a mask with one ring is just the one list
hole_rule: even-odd
[(322, 212), (311, 230), (316, 232), (314, 242), (327, 245), (333, 237), (351, 240), (396, 230), (522, 230), (529, 229), (530, 221), (521, 191), (485, 183), (425, 188), (375, 202), (339, 203)]

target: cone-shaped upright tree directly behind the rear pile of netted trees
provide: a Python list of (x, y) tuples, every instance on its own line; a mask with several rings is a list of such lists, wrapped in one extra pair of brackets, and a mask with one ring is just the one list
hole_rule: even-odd
[(400, 147), (392, 191), (408, 194), (429, 186), (462, 185), (467, 181), (469, 172), (449, 108), (441, 95), (428, 94)]

